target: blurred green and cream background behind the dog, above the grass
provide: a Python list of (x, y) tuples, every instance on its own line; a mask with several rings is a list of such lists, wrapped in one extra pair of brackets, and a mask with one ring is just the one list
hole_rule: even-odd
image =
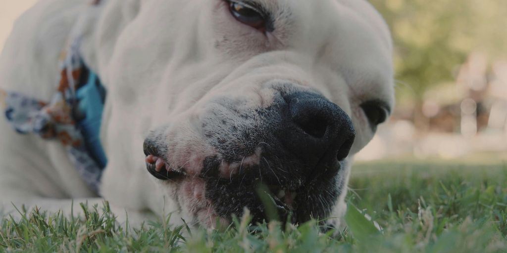
[[(0, 0), (0, 49), (36, 0)], [(507, 1), (371, 0), (391, 27), (397, 105), (356, 156), (507, 159)]]

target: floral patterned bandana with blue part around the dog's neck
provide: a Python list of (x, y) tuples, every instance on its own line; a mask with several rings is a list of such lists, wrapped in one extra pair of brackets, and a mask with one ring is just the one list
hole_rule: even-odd
[(105, 90), (81, 58), (79, 35), (62, 52), (58, 87), (49, 103), (0, 89), (0, 106), (18, 133), (59, 140), (83, 180), (98, 193), (107, 163), (98, 138)]

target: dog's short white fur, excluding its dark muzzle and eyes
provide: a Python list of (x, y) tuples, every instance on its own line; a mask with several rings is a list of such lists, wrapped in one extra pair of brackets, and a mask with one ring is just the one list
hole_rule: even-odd
[[(108, 91), (101, 140), (110, 162), (101, 195), (117, 213), (125, 209), (140, 220), (146, 210), (192, 220), (180, 212), (185, 207), (174, 186), (146, 171), (142, 143), (150, 131), (165, 126), (177, 157), (212, 153), (193, 123), (210, 101), (246, 97), (252, 106), (269, 104), (266, 83), (285, 80), (319, 91), (349, 114), (354, 154), (374, 134), (360, 103), (394, 100), (390, 35), (366, 1), (259, 1), (279, 14), (268, 36), (234, 20), (222, 0), (107, 0), (99, 7), (41, 1), (15, 24), (0, 58), (0, 87), (48, 101), (58, 55), (81, 22), (82, 55)], [(4, 118), (0, 133), (0, 208), (12, 211), (12, 201), (69, 210), (70, 199), (101, 201), (58, 142), (15, 134)]]

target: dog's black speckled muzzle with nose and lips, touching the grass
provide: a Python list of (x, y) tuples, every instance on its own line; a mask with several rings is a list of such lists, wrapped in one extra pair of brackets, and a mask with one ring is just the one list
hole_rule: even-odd
[(209, 120), (224, 124), (202, 122), (203, 136), (198, 138), (216, 155), (203, 158), (198, 175), (190, 175), (185, 166), (168, 165), (172, 161), (166, 147), (171, 144), (156, 135), (144, 142), (148, 171), (160, 180), (203, 179), (205, 197), (222, 218), (241, 216), (247, 207), (254, 221), (266, 219), (260, 185), (269, 189), (282, 221), (327, 217), (344, 189), (339, 171), (355, 137), (349, 116), (310, 92), (280, 94), (268, 108), (246, 112), (233, 104), (218, 107), (233, 113), (207, 113), (214, 115)]

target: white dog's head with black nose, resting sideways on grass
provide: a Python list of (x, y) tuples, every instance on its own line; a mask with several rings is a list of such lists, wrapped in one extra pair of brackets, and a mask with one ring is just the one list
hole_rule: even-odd
[(264, 219), (261, 184), (282, 219), (343, 207), (350, 157), (393, 104), (389, 32), (367, 2), (117, 0), (106, 9), (130, 20), (102, 47), (111, 166), (146, 162), (187, 219), (208, 226), (244, 207)]

